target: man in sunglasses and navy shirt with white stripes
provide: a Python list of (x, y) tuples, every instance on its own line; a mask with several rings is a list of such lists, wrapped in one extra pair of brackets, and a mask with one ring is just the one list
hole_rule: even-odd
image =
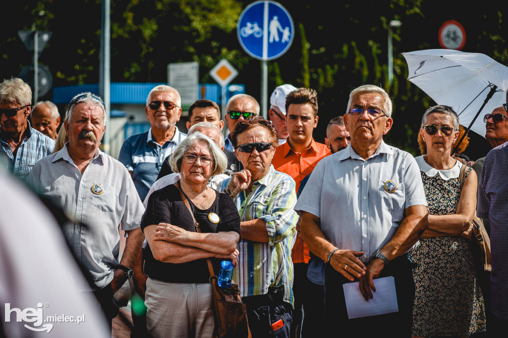
[(187, 137), (176, 126), (182, 113), (181, 106), (180, 94), (175, 88), (167, 85), (154, 87), (146, 98), (145, 107), (150, 129), (126, 139), (120, 149), (118, 160), (131, 173), (142, 200), (157, 179), (164, 159)]

